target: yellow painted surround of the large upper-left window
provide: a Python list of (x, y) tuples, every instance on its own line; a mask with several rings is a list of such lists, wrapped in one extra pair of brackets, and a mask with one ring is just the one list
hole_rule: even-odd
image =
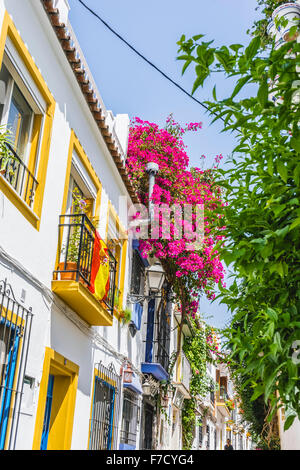
[[(2, 178), (0, 181), (0, 189), (4, 192), (5, 196), (8, 199), (10, 199), (10, 201), (23, 214), (23, 216), (37, 230), (39, 230), (40, 219), (42, 215), (45, 184), (46, 184), (47, 167), (48, 167), (48, 160), (49, 160), (50, 139), (51, 139), (52, 124), (53, 124), (53, 117), (54, 117), (54, 111), (55, 111), (55, 100), (51, 92), (49, 91), (47, 84), (42, 77), (41, 72), (39, 71), (33, 58), (31, 57), (25, 43), (22, 41), (22, 38), (20, 34), (18, 33), (11, 17), (9, 16), (8, 12), (5, 11), (4, 19), (2, 23), (1, 35), (0, 35), (0, 68), (2, 66), (5, 43), (6, 43), (7, 37), (9, 37), (11, 41), (13, 42), (28, 72), (30, 73), (32, 79), (34, 80), (35, 84), (37, 85), (40, 93), (42, 94), (47, 104), (44, 131), (43, 131), (43, 135), (41, 138), (40, 161), (39, 161), (37, 177), (36, 177), (39, 184), (35, 193), (34, 205), (33, 205), (33, 210), (32, 210), (35, 214), (35, 217), (32, 215), (31, 213), (32, 211), (27, 206), (26, 202), (23, 201), (22, 198), (20, 197), (19, 197), (19, 200), (18, 198), (16, 198), (15, 191), (9, 185), (9, 183), (6, 186), (4, 186), (4, 178)], [(35, 143), (33, 144), (32, 152), (34, 152), (34, 147), (35, 147)], [(37, 150), (37, 147), (35, 148), (35, 152), (36, 150)], [(29, 160), (30, 164), (32, 164), (33, 159), (36, 158), (36, 155), (33, 156), (32, 152), (31, 152), (30, 160)]]

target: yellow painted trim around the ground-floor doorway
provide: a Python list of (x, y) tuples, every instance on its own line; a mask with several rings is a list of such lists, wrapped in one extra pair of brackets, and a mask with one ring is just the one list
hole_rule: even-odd
[(60, 439), (63, 437), (63, 445), (61, 449), (57, 450), (69, 450), (71, 448), (79, 366), (74, 362), (71, 362), (68, 359), (64, 358), (61, 354), (57, 353), (53, 349), (46, 348), (42, 379), (40, 383), (38, 408), (35, 420), (35, 430), (32, 446), (33, 450), (39, 450), (41, 446), (48, 379), (49, 374), (54, 369), (57, 369), (60, 374), (70, 378), (70, 385), (68, 387), (68, 391), (64, 399), (67, 404), (65, 419), (63, 420), (63, 426), (61, 426), (58, 432)]

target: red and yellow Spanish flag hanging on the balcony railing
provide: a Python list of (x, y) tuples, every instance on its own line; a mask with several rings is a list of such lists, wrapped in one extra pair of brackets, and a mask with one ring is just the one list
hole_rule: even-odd
[(105, 300), (109, 290), (109, 254), (99, 233), (95, 233), (89, 290), (98, 300)]

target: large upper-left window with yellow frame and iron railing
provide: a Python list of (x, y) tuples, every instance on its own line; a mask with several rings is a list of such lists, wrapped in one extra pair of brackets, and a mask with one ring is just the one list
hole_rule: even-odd
[(5, 13), (0, 43), (0, 190), (39, 228), (55, 102)]

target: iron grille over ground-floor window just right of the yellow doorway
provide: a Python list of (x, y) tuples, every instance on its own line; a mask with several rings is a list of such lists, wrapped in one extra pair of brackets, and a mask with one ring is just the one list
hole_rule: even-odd
[(121, 376), (113, 364), (98, 364), (95, 376), (90, 450), (115, 450), (118, 440)]

